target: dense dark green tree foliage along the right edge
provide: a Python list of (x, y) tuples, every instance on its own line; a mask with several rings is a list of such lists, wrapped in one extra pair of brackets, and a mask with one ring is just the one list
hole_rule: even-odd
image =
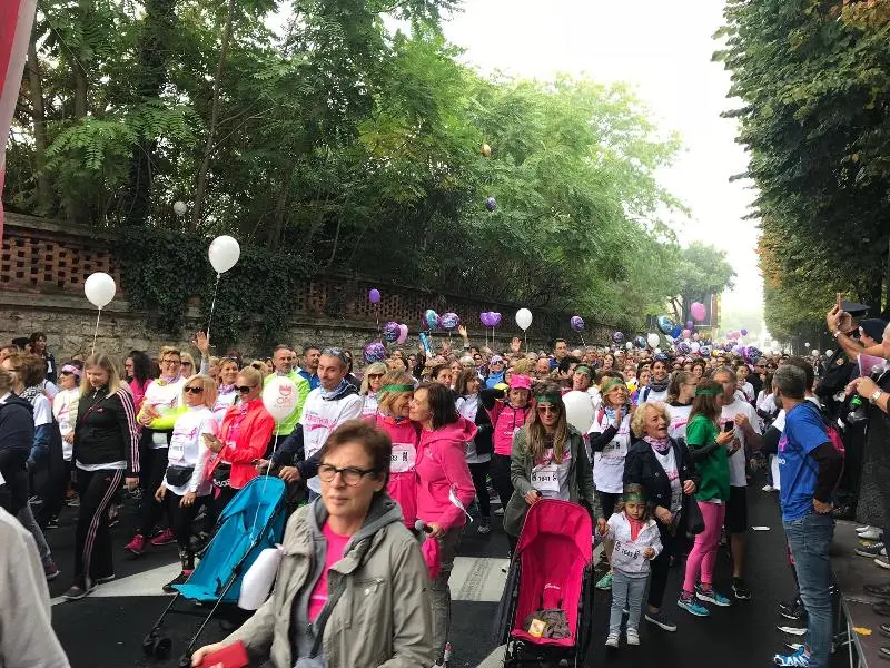
[[(760, 195), (770, 331), (815, 326), (834, 292), (890, 297), (890, 21), (887, 3), (726, 3), (730, 97)], [(825, 299), (828, 297), (828, 299)]]

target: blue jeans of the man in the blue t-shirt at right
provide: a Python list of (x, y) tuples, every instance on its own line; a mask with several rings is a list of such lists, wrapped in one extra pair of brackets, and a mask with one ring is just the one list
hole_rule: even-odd
[(834, 534), (834, 518), (809, 514), (782, 522), (794, 558), (800, 598), (807, 609), (807, 647), (813, 668), (828, 668), (833, 637), (831, 613), (831, 561), (829, 548)]

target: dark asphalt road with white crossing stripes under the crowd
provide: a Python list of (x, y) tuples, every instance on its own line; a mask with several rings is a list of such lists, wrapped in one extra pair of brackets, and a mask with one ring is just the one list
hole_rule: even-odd
[[(671, 572), (665, 609), (679, 625), (676, 633), (665, 633), (643, 622), (641, 646), (606, 651), (610, 596), (597, 591), (594, 596), (594, 638), (587, 666), (596, 668), (636, 668), (641, 666), (698, 667), (719, 664), (720, 668), (752, 668), (772, 665), (772, 656), (788, 651), (785, 642), (798, 638), (783, 633), (778, 626), (788, 626), (777, 613), (781, 599), (793, 595), (793, 580), (784, 557), (784, 540), (778, 512), (777, 495), (760, 490), (756, 481), (749, 491), (750, 523), (769, 527), (767, 531), (751, 531), (748, 544), (746, 581), (753, 593), (750, 601), (733, 601), (724, 609), (713, 609), (706, 619), (693, 618), (675, 607), (682, 569)], [(62, 527), (49, 531), (47, 537), (62, 576), (50, 583), (53, 598), (53, 627), (68, 652), (72, 668), (176, 666), (190, 633), (197, 629), (197, 617), (170, 616), (167, 631), (174, 641), (172, 659), (159, 662), (147, 659), (141, 641), (160, 615), (170, 597), (160, 586), (178, 572), (175, 546), (154, 548), (132, 560), (125, 557), (123, 544), (130, 539), (136, 524), (135, 509), (125, 507), (121, 523), (115, 528), (115, 558), (117, 579), (100, 584), (80, 601), (68, 602), (60, 595), (70, 584), (73, 563), (73, 509), (66, 509)], [(453, 602), (452, 668), (494, 668), (501, 665), (503, 649), (493, 642), (492, 623), (503, 590), (506, 568), (506, 538), (495, 518), (488, 536), (467, 528), (455, 562), (451, 586)], [(715, 586), (730, 592), (730, 563), (726, 551), (718, 559)], [(186, 603), (189, 612), (201, 612)], [(201, 635), (200, 645), (221, 639), (226, 625), (237, 623), (237, 611), (227, 611), (212, 620)], [(840, 666), (844, 652), (835, 655)]]

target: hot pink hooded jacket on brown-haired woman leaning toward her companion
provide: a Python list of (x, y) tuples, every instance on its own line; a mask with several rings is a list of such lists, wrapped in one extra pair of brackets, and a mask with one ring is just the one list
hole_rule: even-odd
[(448, 500), (448, 492), (468, 508), (476, 497), (469, 466), (466, 463), (466, 442), (476, 436), (476, 425), (466, 418), (434, 431), (421, 431), (417, 452), (417, 517), (427, 524), (436, 522), (448, 530), (463, 527), (464, 511)]

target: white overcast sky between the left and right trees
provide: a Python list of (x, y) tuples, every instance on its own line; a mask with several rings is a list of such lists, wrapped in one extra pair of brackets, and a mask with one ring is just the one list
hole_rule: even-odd
[(730, 252), (738, 277), (724, 308), (732, 310), (760, 304), (762, 283), (755, 223), (742, 219), (753, 191), (750, 181), (729, 183), (748, 164), (734, 121), (720, 117), (733, 106), (729, 73), (711, 62), (722, 8), (720, 0), (465, 0), (445, 32), (483, 72), (540, 79), (568, 72), (632, 84), (653, 120), (682, 137), (682, 155), (660, 177), (692, 210), (678, 228), (681, 240)]

